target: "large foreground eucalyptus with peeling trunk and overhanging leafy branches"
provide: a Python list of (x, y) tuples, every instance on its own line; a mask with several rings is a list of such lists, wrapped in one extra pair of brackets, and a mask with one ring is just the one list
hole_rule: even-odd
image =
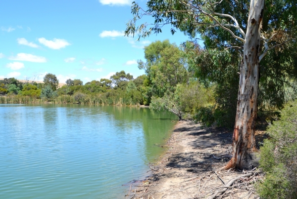
[[(269, 58), (277, 57), (285, 51), (290, 54), (285, 61), (295, 64), (297, 1), (148, 0), (147, 6), (148, 10), (144, 10), (138, 3), (132, 3), (134, 18), (128, 22), (125, 35), (138, 34), (140, 39), (152, 32), (160, 33), (164, 25), (170, 24), (172, 34), (176, 29), (188, 34), (190, 38), (200, 34), (206, 47), (228, 48), (239, 52), (242, 59), (233, 157), (225, 168), (242, 169), (256, 165), (254, 127), (259, 63), (266, 55), (270, 55)], [(138, 20), (145, 15), (152, 16), (154, 23), (137, 26)], [(296, 65), (291, 69), (296, 72)]]

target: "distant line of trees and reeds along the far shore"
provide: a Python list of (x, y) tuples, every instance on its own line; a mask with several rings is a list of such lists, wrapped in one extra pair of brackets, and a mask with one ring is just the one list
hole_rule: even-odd
[(137, 106), (144, 104), (141, 86), (146, 75), (133, 79), (124, 71), (116, 73), (111, 80), (87, 82), (67, 80), (58, 88), (55, 75), (47, 74), (44, 83), (22, 83), (15, 78), (0, 80), (0, 103), (81, 103), (96, 105)]

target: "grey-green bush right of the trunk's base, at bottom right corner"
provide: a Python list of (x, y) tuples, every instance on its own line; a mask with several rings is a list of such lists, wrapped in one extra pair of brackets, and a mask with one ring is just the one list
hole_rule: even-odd
[(257, 186), (265, 199), (297, 199), (297, 101), (281, 111), (269, 125), (270, 139), (260, 148), (260, 167), (266, 177)]

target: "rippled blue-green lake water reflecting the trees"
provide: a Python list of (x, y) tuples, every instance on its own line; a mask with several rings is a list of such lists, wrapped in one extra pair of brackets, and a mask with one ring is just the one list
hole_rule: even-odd
[(122, 199), (177, 120), (84, 105), (0, 105), (0, 116), (0, 199)]

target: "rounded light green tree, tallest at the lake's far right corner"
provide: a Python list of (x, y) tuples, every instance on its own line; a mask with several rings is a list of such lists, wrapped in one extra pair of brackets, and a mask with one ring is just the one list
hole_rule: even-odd
[(144, 98), (147, 103), (152, 96), (163, 97), (165, 92), (175, 92), (176, 85), (187, 83), (189, 73), (181, 50), (169, 40), (155, 41), (145, 47), (146, 63), (139, 60), (148, 78), (144, 80)]

